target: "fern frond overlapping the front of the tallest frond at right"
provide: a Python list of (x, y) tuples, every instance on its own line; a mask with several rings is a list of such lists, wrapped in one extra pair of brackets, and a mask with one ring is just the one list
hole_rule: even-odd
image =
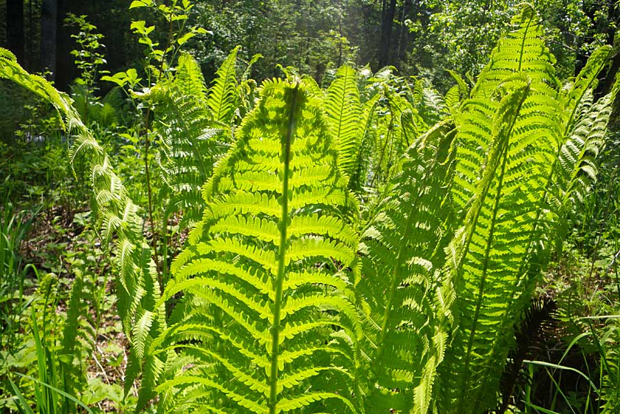
[[(448, 253), (448, 262), (453, 263), (454, 311), (459, 328), (440, 366), (442, 387), (449, 390), (440, 395), (441, 411), (477, 413), (495, 404), (503, 359), (500, 356), (490, 364), (487, 358), (496, 347), (508, 353), (508, 330), (513, 319), (506, 318), (506, 313), (513, 309), (506, 306), (520, 293), (516, 289), (521, 275), (516, 273), (527, 247), (523, 234), (533, 228), (534, 206), (527, 200), (532, 191), (528, 187), (535, 188), (536, 180), (521, 188), (523, 183), (515, 182), (515, 174), (523, 170), (525, 161), (517, 156), (518, 141), (511, 139), (513, 132), (519, 131), (517, 121), (526, 108), (528, 94), (530, 85), (526, 83), (502, 101), (484, 170), (466, 212), (464, 231), (457, 232), (448, 249), (455, 252)], [(457, 184), (455, 180), (455, 187)], [(515, 210), (516, 203), (521, 209), (506, 214)]]

